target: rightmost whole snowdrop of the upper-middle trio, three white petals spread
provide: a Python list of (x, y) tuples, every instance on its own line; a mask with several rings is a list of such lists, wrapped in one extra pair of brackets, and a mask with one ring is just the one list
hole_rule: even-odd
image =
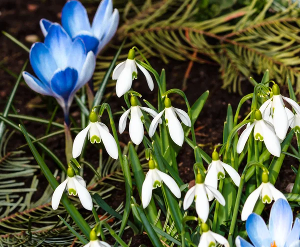
[(181, 109), (172, 107), (169, 98), (164, 99), (164, 106), (165, 108), (161, 112), (159, 112), (152, 120), (149, 127), (149, 136), (152, 137), (154, 135), (158, 122), (162, 114), (164, 113), (164, 118), (166, 122), (165, 125), (168, 127), (171, 139), (178, 146), (182, 146), (184, 141), (184, 132), (179, 120), (177, 119), (176, 114), (178, 115), (182, 123), (188, 127), (191, 126), (190, 119), (186, 112), (182, 111)]

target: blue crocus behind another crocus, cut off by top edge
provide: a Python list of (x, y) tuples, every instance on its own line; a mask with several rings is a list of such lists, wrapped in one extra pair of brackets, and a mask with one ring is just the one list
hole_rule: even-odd
[[(111, 0), (102, 0), (90, 25), (83, 5), (77, 0), (68, 1), (61, 12), (61, 25), (72, 38), (83, 40), (87, 52), (97, 55), (111, 40), (119, 22), (117, 9), (112, 9)], [(40, 28), (44, 36), (47, 35), (51, 22), (40, 20)]]

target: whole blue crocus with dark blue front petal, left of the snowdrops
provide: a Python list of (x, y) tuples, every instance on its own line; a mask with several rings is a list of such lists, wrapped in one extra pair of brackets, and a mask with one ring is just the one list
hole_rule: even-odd
[(37, 78), (23, 72), (25, 82), (35, 92), (54, 97), (68, 124), (75, 92), (94, 72), (94, 54), (86, 52), (80, 38), (72, 41), (59, 24), (51, 24), (44, 43), (36, 42), (31, 46), (29, 59)]

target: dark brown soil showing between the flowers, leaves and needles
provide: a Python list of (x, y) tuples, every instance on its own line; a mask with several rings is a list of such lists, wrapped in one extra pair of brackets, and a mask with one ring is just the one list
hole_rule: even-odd
[[(20, 40), (27, 47), (31, 44), (25, 42), (27, 35), (36, 34), (41, 40), (43, 39), (39, 29), (38, 22), (41, 18), (46, 18), (52, 21), (59, 22), (59, 11), (62, 8), (63, 1), (1, 1), (0, 3), (0, 29), (5, 31), (16, 39)], [(97, 7), (96, 4), (89, 4), (89, 10), (93, 13)], [(109, 50), (107, 50), (109, 53)], [(6, 99), (8, 98), (11, 89), (15, 83), (15, 78), (7, 73), (7, 70), (18, 75), (25, 60), (28, 59), (28, 53), (19, 48), (17, 45), (8, 40), (4, 35), (0, 34), (0, 112), (4, 109)], [(150, 59), (151, 65), (159, 72), (162, 68), (165, 69), (167, 79), (167, 89), (182, 88), (183, 76), (188, 66), (188, 62), (178, 62), (171, 60), (169, 64), (163, 64), (158, 59)], [(27, 71), (31, 72), (30, 65), (27, 66)], [(259, 81), (260, 78), (257, 78)], [(227, 91), (221, 89), (222, 81), (218, 73), (218, 68), (208, 65), (194, 64), (187, 81), (187, 89), (185, 94), (190, 102), (193, 104), (196, 99), (206, 90), (209, 90), (209, 98), (195, 123), (197, 143), (201, 144), (202, 149), (208, 154), (211, 154), (213, 147), (222, 142), (222, 129), (226, 118), (227, 104), (231, 104), (233, 111), (235, 111), (237, 104), (241, 98), (237, 94), (229, 94)], [(149, 92), (143, 76), (141, 75), (137, 81), (134, 82), (133, 88), (142, 94), (143, 98), (156, 104), (156, 88), (153, 92)], [(242, 85), (242, 93), (247, 94), (252, 91), (252, 86), (248, 81), (244, 81)], [(109, 88), (108, 90), (114, 90)], [(284, 89), (284, 94), (287, 94)], [(118, 99), (112, 96), (111, 102), (112, 111), (121, 110), (121, 106), (125, 106), (123, 99)], [(184, 101), (180, 97), (173, 97), (172, 102), (174, 106), (184, 107)], [(33, 105), (33, 106), (32, 106)], [(48, 97), (37, 96), (31, 91), (24, 82), (22, 82), (15, 94), (13, 106), (19, 114), (26, 114), (29, 116), (41, 117), (49, 119), (55, 106), (55, 101)], [(242, 112), (248, 111), (249, 102), (245, 103)], [(76, 107), (71, 108), (72, 116), (79, 120), (79, 112)], [(13, 121), (16, 121), (13, 119)], [(62, 123), (62, 113), (59, 109), (55, 122)], [(23, 121), (28, 132), (36, 137), (44, 135), (46, 126), (34, 124), (32, 122)], [(129, 137), (127, 134), (120, 135), (120, 141), (127, 143)], [(11, 150), (25, 143), (22, 135), (15, 135), (14, 142), (9, 145)], [(55, 153), (56, 156), (65, 162), (64, 158), (64, 138), (58, 136), (47, 140), (47, 146)], [(25, 149), (28, 150), (28, 149)], [(96, 150), (95, 148), (91, 150)], [(29, 151), (28, 151), (29, 153)], [(94, 159), (93, 159), (94, 158)], [(96, 163), (96, 155), (91, 155), (89, 161)], [(194, 163), (193, 151), (187, 144), (181, 148), (178, 158), (179, 174), (184, 182), (188, 183), (194, 179), (192, 166)], [(55, 164), (51, 160), (46, 160), (51, 170), (54, 170)], [(286, 158), (279, 174), (276, 186), (283, 190), (286, 185), (294, 181), (295, 175), (290, 169), (290, 166), (298, 167), (295, 159)], [(87, 174), (87, 180), (88, 180)], [(39, 174), (39, 178), (42, 178)], [(40, 186), (46, 186), (45, 179), (39, 179)], [(44, 182), (43, 182), (44, 180)], [(107, 199), (112, 208), (116, 208), (121, 201), (124, 200), (123, 184), (115, 184), (118, 189), (114, 191), (112, 199)], [(136, 195), (136, 190), (134, 191)], [(38, 197), (38, 192), (36, 195)], [(123, 239), (128, 240), (132, 236), (130, 231), (125, 232)], [(151, 246), (146, 235), (134, 236), (131, 246), (139, 246), (145, 244)]]

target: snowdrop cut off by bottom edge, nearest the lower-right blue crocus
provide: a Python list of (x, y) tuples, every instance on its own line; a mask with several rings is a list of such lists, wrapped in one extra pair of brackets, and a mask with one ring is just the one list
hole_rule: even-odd
[(229, 247), (229, 243), (225, 237), (220, 234), (214, 233), (213, 231), (209, 230), (209, 226), (205, 223), (201, 224), (202, 235), (200, 237), (200, 242), (198, 247), (210, 247), (216, 246), (216, 242), (225, 247)]

